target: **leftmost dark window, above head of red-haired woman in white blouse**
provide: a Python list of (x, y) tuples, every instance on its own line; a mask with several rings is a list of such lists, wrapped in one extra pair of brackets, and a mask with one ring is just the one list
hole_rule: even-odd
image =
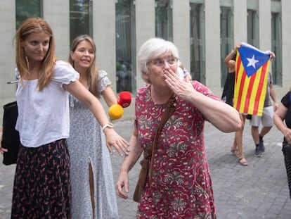
[(16, 30), (27, 18), (42, 17), (42, 1), (39, 0), (16, 0)]

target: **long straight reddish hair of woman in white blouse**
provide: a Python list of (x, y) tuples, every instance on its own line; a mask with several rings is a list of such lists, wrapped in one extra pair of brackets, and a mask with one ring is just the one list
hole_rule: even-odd
[(46, 23), (45, 20), (41, 18), (28, 18), (23, 21), (18, 31), (16, 32), (16, 65), (19, 70), (21, 81), (23, 77), (30, 75), (29, 63), (27, 61), (27, 56), (25, 50), (21, 46), (21, 42), (24, 41), (28, 35), (32, 33), (45, 32), (49, 37), (49, 47), (44, 56), (44, 60), (41, 63), (41, 70), (39, 73), (38, 87), (39, 91), (44, 89), (49, 82), (51, 82), (51, 77), (53, 76), (54, 66), (56, 65), (55, 56), (55, 39), (53, 37), (53, 31), (51, 27)]

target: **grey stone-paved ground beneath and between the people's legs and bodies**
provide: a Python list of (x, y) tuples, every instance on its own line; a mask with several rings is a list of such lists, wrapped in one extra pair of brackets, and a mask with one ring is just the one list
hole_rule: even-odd
[[(116, 130), (129, 140), (132, 121), (118, 121)], [(234, 133), (223, 133), (211, 124), (205, 125), (205, 145), (209, 168), (212, 174), (214, 200), (219, 219), (289, 219), (291, 203), (287, 186), (287, 175), (281, 152), (283, 135), (273, 127), (264, 137), (266, 152), (262, 158), (253, 156), (254, 143), (248, 120), (245, 125), (243, 146), (249, 165), (238, 163), (231, 154)], [(2, 156), (0, 156), (0, 162)], [(112, 169), (115, 182), (122, 158), (112, 155)], [(0, 164), (0, 218), (10, 218), (11, 195), (15, 165)], [(137, 204), (132, 200), (140, 170), (136, 163), (131, 170), (130, 198), (117, 197), (119, 217), (133, 219)]]

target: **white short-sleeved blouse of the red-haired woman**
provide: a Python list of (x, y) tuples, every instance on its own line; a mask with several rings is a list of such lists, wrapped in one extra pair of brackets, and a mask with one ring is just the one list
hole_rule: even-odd
[[(16, 77), (20, 78), (18, 69)], [(70, 134), (69, 92), (63, 85), (75, 82), (79, 73), (69, 63), (57, 61), (51, 82), (39, 92), (38, 80), (18, 81), (18, 120), (15, 129), (26, 147), (66, 139)]]

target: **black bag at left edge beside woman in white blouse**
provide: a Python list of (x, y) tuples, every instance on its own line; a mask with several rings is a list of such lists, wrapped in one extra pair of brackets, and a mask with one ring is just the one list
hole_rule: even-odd
[(3, 108), (3, 135), (1, 147), (8, 149), (8, 151), (3, 154), (3, 163), (5, 165), (11, 165), (17, 161), (20, 145), (19, 133), (15, 130), (15, 124), (18, 118), (17, 102), (14, 101), (6, 104)]

